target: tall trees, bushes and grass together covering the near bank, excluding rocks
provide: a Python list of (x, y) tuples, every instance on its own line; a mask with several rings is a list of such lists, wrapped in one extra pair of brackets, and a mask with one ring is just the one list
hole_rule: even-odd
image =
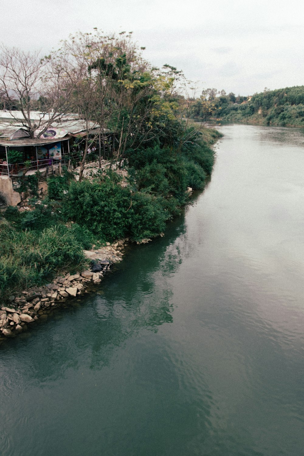
[[(179, 119), (180, 72), (149, 67), (129, 38), (80, 34), (63, 49), (64, 60), (60, 53), (52, 58), (71, 76), (62, 80), (69, 93), (66, 109), (99, 125), (100, 134), (104, 128), (117, 134), (113, 163), (127, 169), (128, 182), (122, 186), (113, 169), (79, 181), (63, 169), (62, 176), (49, 177), (48, 194), (40, 201), (39, 175), (25, 177), (22, 190), (30, 194), (31, 210), (9, 207), (0, 220), (1, 296), (51, 280), (58, 269), (81, 268), (82, 249), (92, 244), (158, 236), (189, 201), (187, 187), (203, 189), (211, 174), (210, 146), (219, 133)], [(88, 145), (86, 139), (86, 150)], [(83, 166), (85, 161), (86, 154)]]

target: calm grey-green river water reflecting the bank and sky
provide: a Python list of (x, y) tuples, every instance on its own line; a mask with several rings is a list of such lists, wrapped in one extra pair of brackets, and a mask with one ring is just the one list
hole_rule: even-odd
[(164, 238), (1, 346), (1, 456), (304, 454), (304, 136), (220, 129)]

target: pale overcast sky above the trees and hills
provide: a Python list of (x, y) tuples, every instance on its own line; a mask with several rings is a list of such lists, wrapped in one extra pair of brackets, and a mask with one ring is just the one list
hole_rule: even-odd
[(202, 88), (250, 95), (304, 84), (304, 2), (282, 0), (1, 0), (0, 41), (45, 54), (98, 27), (133, 31), (154, 66)]

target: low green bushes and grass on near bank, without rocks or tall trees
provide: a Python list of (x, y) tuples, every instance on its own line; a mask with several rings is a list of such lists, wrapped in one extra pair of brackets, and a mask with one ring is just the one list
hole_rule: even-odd
[(64, 170), (49, 179), (43, 201), (31, 189), (30, 210), (8, 207), (0, 220), (1, 298), (42, 285), (61, 269), (83, 268), (82, 250), (93, 244), (126, 237), (139, 242), (162, 233), (187, 204), (187, 187), (202, 190), (212, 171), (211, 144), (220, 134), (188, 133), (175, 147), (129, 150), (127, 186), (112, 170), (82, 182)]

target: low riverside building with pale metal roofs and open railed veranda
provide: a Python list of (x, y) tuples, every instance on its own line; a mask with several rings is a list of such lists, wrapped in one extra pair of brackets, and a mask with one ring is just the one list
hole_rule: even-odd
[[(16, 190), (25, 176), (40, 171), (43, 179), (49, 173), (61, 172), (62, 164), (77, 164), (81, 160), (87, 135), (90, 145), (95, 145), (96, 150), (101, 144), (98, 141), (101, 135), (99, 125), (93, 122), (87, 124), (82, 119), (76, 119), (77, 115), (65, 115), (60, 122), (53, 122), (45, 130), (40, 121), (44, 116), (47, 121), (49, 115), (32, 111), (31, 120), (35, 122), (39, 119), (40, 128), (35, 131), (36, 137), (30, 138), (22, 120), (18, 119), (22, 113), (13, 113), (11, 116), (10, 112), (0, 111), (0, 194), (7, 204), (16, 205), (21, 201)], [(115, 136), (106, 130), (103, 130), (102, 136), (105, 140), (101, 154), (106, 151), (112, 155)]]

